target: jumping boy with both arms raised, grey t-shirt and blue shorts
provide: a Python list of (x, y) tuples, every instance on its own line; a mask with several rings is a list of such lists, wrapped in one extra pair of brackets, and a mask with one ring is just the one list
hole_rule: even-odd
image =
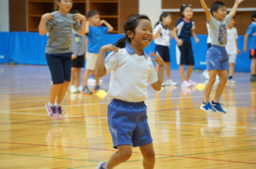
[[(225, 46), (228, 41), (227, 27), (230, 25), (230, 18), (236, 14), (238, 5), (243, 0), (236, 0), (230, 14), (227, 15), (226, 6), (224, 3), (212, 3), (211, 12), (207, 8), (204, 0), (200, 0), (202, 8), (207, 15), (207, 22), (210, 26), (210, 36), (212, 40), (212, 47), (207, 52), (207, 70), (209, 73), (209, 81), (207, 82), (204, 101), (201, 104), (201, 110), (207, 112), (218, 111), (225, 114), (221, 104), (218, 103), (221, 94), (223, 93), (225, 84), (227, 82), (228, 62), (229, 57)], [(219, 84), (212, 104), (209, 103), (209, 97), (212, 91), (212, 85), (215, 82), (216, 75), (219, 76)]]

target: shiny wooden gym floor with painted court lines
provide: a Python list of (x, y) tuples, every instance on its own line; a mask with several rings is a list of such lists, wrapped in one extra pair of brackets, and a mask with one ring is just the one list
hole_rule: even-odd
[[(148, 123), (156, 169), (256, 168), (256, 83), (236, 73), (224, 89), (226, 115), (199, 109), (204, 91), (148, 87)], [(112, 148), (108, 99), (67, 93), (66, 115), (54, 121), (44, 109), (49, 95), (47, 66), (0, 65), (0, 168), (96, 168)], [(108, 89), (109, 75), (102, 78)], [(177, 70), (172, 79), (180, 83)], [(201, 71), (192, 74), (205, 82)], [(213, 92), (216, 89), (213, 88)], [(116, 168), (143, 168), (138, 148)]]

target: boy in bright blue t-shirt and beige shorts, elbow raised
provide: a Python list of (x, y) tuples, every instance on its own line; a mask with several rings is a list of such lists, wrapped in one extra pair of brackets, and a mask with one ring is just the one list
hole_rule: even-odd
[[(106, 20), (101, 20), (100, 14), (96, 10), (90, 10), (87, 14), (87, 19), (89, 21), (86, 22), (85, 33), (88, 37), (88, 48), (86, 54), (86, 70), (84, 71), (84, 88), (82, 93), (91, 94), (88, 88), (88, 77), (90, 75), (90, 72), (95, 70), (96, 68), (96, 60), (100, 53), (100, 49), (103, 46), (105, 34), (107, 34), (109, 31), (113, 31), (113, 27), (110, 24), (108, 24)], [(98, 76), (95, 76), (95, 79), (96, 93), (102, 90), (102, 88), (100, 87), (100, 78)]]

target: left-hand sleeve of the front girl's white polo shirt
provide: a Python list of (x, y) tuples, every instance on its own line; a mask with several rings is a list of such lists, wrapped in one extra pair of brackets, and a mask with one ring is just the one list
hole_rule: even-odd
[(107, 74), (114, 70), (118, 65), (119, 59), (119, 52), (112, 52), (108, 54), (107, 58), (105, 59), (105, 69), (107, 70)]

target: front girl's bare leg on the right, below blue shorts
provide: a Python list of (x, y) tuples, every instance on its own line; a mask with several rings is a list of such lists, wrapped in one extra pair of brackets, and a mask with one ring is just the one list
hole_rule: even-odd
[(143, 167), (144, 169), (153, 169), (154, 168), (154, 147), (153, 144), (146, 144), (140, 146), (141, 152), (143, 154)]

